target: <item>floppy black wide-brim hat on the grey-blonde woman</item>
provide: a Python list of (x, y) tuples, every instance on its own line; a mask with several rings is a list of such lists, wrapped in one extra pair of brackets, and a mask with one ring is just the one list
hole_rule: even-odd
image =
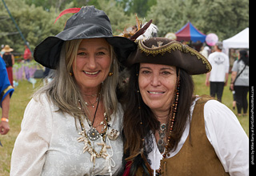
[(50, 36), (34, 49), (34, 60), (42, 66), (56, 69), (63, 42), (84, 38), (106, 38), (114, 46), (119, 62), (126, 61), (131, 51), (136, 50), (136, 44), (128, 38), (113, 36), (110, 19), (94, 6), (83, 6), (66, 22), (62, 32)]

